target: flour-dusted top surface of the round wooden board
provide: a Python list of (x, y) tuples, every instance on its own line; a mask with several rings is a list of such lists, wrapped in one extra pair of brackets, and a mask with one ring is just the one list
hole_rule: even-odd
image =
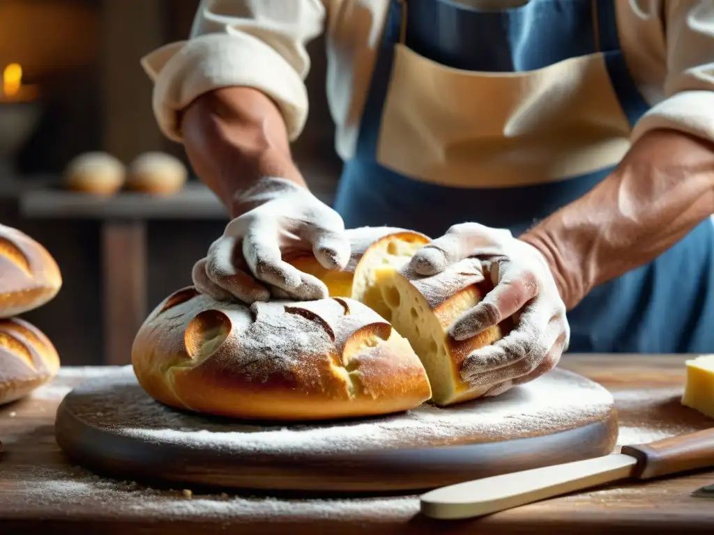
[(67, 400), (71, 411), (89, 424), (140, 441), (209, 446), (230, 454), (299, 455), (546, 434), (601, 419), (613, 399), (603, 387), (578, 376), (562, 381), (556, 374), (548, 374), (502, 396), (449, 409), (425, 404), (407, 413), (331, 424), (248, 424), (165, 407), (141, 389), (131, 367), (124, 367), (85, 382)]

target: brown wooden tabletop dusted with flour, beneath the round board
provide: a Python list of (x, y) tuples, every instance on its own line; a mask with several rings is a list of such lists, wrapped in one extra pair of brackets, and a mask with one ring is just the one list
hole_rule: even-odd
[[(562, 367), (608, 387), (620, 415), (618, 444), (649, 442), (712, 427), (681, 406), (684, 361), (666, 355), (568, 355)], [(241, 534), (369, 533), (708, 533), (714, 501), (691, 493), (714, 472), (613, 484), (503, 511), (441, 522), (418, 512), (416, 496), (309, 497), (201, 494), (104, 479), (66, 461), (54, 441), (54, 414), (79, 382), (107, 368), (66, 368), (28, 399), (0, 407), (0, 531), (39, 533)]]

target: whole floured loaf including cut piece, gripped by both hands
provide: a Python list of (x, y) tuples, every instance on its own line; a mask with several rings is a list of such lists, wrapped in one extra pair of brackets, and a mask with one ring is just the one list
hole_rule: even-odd
[(490, 289), (478, 263), (422, 277), (408, 263), (426, 236), (361, 228), (348, 237), (345, 270), (327, 270), (313, 255), (288, 258), (323, 280), (329, 299), (246, 307), (193, 287), (166, 298), (134, 341), (142, 387), (173, 407), (272, 420), (387, 414), (482, 395), (488, 388), (464, 382), (461, 365), (506, 327), (462, 342), (447, 335)]

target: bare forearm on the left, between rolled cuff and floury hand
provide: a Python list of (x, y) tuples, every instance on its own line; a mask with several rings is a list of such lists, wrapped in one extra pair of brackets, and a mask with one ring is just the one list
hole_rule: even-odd
[(305, 186), (278, 107), (261, 91), (229, 87), (196, 98), (183, 113), (183, 144), (198, 177), (234, 213), (236, 191), (265, 176)]

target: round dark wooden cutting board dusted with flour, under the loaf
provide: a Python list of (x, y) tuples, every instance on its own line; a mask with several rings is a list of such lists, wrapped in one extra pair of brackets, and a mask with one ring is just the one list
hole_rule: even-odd
[(557, 369), (446, 409), (302, 425), (176, 411), (127, 366), (67, 394), (56, 419), (61, 449), (96, 472), (233, 489), (425, 490), (605, 455), (617, 434), (610, 392)]

